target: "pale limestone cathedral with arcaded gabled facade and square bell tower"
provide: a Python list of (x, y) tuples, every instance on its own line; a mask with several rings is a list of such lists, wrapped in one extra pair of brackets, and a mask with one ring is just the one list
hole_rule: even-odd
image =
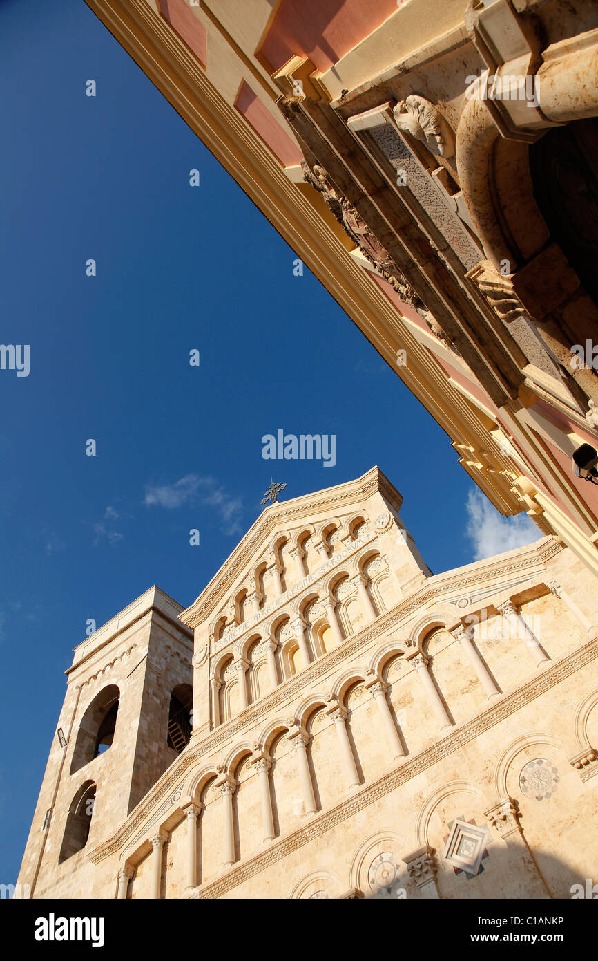
[(75, 649), (18, 884), (78, 899), (572, 897), (595, 581), (553, 536), (433, 575), (363, 477), (268, 505), (186, 609)]

